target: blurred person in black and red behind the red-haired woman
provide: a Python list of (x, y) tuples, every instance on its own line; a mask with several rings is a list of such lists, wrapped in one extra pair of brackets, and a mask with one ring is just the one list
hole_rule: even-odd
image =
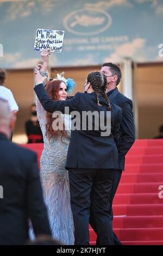
[(26, 134), (28, 137), (28, 143), (43, 143), (35, 104), (30, 106), (30, 119), (26, 121)]

